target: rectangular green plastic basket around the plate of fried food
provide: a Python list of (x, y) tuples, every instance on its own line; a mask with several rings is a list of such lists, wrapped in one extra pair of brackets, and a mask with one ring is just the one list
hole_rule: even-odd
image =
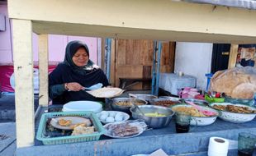
[[(61, 117), (61, 116), (77, 116), (77, 117), (88, 117), (92, 120), (92, 124), (97, 132), (88, 135), (69, 135), (60, 137), (46, 137), (45, 126), (49, 118)], [(44, 113), (40, 118), (40, 124), (37, 130), (36, 139), (41, 140), (44, 145), (58, 145), (67, 144), (83, 141), (94, 141), (99, 140), (100, 136), (105, 133), (105, 129), (102, 123), (98, 120), (94, 112), (48, 112)]]

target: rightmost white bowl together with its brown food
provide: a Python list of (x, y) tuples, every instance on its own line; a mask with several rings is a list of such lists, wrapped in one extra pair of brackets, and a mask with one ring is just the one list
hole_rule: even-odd
[(210, 103), (211, 108), (220, 111), (219, 117), (226, 122), (250, 122), (256, 116), (256, 108), (234, 103)]

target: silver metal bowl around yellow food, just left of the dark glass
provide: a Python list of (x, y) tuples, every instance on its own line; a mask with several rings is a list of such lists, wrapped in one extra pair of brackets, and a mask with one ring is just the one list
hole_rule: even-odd
[(152, 128), (163, 128), (168, 126), (174, 114), (172, 109), (163, 106), (141, 105), (138, 107), (144, 113), (158, 112), (166, 115), (166, 117), (146, 117), (142, 115), (137, 108), (130, 108), (131, 115), (134, 119), (143, 119), (145, 123)]

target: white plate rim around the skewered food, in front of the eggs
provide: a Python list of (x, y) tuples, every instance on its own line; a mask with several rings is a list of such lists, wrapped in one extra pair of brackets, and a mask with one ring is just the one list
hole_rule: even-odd
[(136, 126), (138, 128), (139, 132), (137, 134), (122, 136), (122, 137), (111, 135), (111, 131), (107, 127), (111, 126), (111, 125), (121, 124), (121, 123), (124, 123), (124, 122), (108, 123), (108, 124), (104, 125), (103, 127), (107, 130), (104, 135), (107, 135), (108, 137), (111, 137), (111, 138), (132, 138), (132, 137), (141, 135), (144, 131), (144, 128), (142, 126), (139, 126), (138, 124), (134, 124), (134, 123), (129, 123), (130, 126)]

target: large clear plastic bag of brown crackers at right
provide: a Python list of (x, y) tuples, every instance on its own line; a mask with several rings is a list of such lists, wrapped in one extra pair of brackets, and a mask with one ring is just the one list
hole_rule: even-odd
[(232, 99), (253, 99), (256, 93), (256, 68), (235, 67), (217, 71), (211, 78), (210, 90), (225, 93)]

